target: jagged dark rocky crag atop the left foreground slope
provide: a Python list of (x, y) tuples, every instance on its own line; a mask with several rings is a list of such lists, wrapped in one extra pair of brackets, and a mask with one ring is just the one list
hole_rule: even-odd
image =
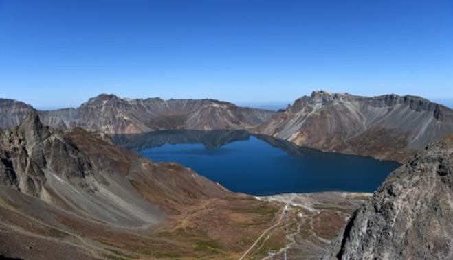
[(68, 180), (91, 173), (85, 154), (65, 133), (43, 126), (36, 110), (31, 110), (19, 126), (0, 135), (0, 150), (0, 172), (9, 171), (8, 178), (0, 178), (0, 185), (13, 185), (31, 196), (42, 195), (46, 171)]

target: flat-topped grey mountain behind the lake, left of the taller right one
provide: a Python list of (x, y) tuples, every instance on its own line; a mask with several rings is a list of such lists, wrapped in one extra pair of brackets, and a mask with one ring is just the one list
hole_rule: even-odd
[(77, 125), (109, 133), (165, 129), (243, 129), (267, 121), (273, 111), (241, 108), (214, 99), (120, 99), (100, 95), (79, 108)]

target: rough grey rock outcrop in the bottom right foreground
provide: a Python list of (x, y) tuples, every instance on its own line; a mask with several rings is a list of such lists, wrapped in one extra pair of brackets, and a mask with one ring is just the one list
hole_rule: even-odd
[(324, 259), (452, 259), (453, 136), (391, 174)]

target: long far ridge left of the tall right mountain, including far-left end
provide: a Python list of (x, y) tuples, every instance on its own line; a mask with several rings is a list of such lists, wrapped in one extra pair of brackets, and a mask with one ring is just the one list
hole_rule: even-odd
[[(17, 126), (31, 106), (0, 99), (0, 127)], [(163, 129), (248, 129), (264, 123), (272, 110), (243, 108), (214, 99), (122, 99), (98, 95), (78, 108), (40, 111), (43, 123), (55, 128), (82, 127), (109, 134)]]

